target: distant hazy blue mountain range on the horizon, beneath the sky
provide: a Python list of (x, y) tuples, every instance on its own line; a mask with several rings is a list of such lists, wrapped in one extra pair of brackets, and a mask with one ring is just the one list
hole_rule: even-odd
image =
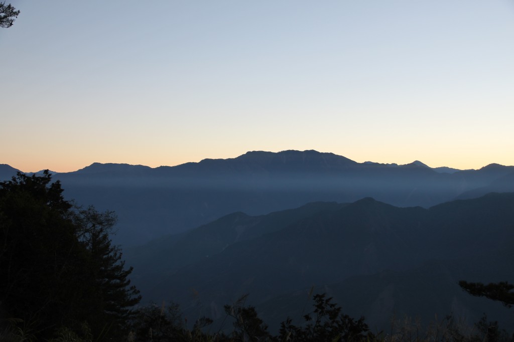
[[(18, 170), (0, 165), (0, 180)], [(316, 201), (364, 197), (396, 206), (429, 207), (488, 192), (514, 191), (514, 166), (478, 170), (357, 163), (332, 153), (251, 151), (237, 158), (151, 168), (93, 163), (57, 173), (66, 199), (112, 210), (119, 217), (114, 241), (124, 246), (185, 232), (224, 215), (261, 215)]]

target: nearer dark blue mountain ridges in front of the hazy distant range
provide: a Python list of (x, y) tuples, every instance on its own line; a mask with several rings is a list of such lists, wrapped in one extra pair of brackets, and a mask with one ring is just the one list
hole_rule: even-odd
[(247, 293), (272, 329), (287, 316), (299, 322), (314, 286), (379, 330), (393, 316), (428, 324), (454, 314), (470, 324), (483, 312), (510, 328), (507, 309), (469, 296), (458, 281), (511, 280), (512, 243), (514, 193), (491, 193), (428, 209), (364, 198), (233, 213), (125, 256), (146, 300), (179, 302), (188, 317), (215, 324)]

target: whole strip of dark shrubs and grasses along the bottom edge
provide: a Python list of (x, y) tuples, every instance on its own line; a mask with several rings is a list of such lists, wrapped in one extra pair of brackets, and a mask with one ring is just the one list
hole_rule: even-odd
[[(442, 320), (430, 322), (422, 328), (419, 319), (393, 318), (388, 334), (369, 331), (364, 318), (353, 319), (341, 314), (341, 308), (326, 298), (325, 294), (314, 296), (313, 312), (304, 316), (305, 325), (295, 326), (290, 318), (282, 322), (278, 335), (268, 332), (267, 326), (259, 318), (252, 306), (245, 306), (248, 295), (244, 295), (231, 305), (225, 306), (226, 318), (233, 318), (230, 333), (218, 331), (210, 333), (205, 327), (212, 323), (208, 318), (198, 319), (193, 328), (187, 327), (187, 319), (181, 315), (177, 304), (161, 306), (151, 303), (135, 309), (131, 318), (131, 332), (127, 340), (131, 342), (239, 342), (239, 341), (344, 341), (344, 342), (512, 342), (508, 334), (498, 327), (497, 322), (488, 321), (484, 315), (473, 327), (447, 315)], [(223, 328), (223, 325), (222, 325)], [(221, 329), (222, 329), (221, 328)], [(220, 329), (220, 330), (221, 330)], [(62, 331), (61, 333), (69, 333)], [(73, 337), (70, 334), (68, 336)], [(54, 339), (54, 342), (63, 339)], [(69, 339), (88, 341), (87, 339)]]

